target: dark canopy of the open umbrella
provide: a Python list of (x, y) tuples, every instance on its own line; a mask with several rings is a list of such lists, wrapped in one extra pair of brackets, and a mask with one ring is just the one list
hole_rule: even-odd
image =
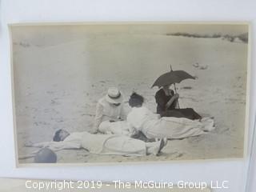
[(161, 86), (168, 86), (174, 83), (179, 83), (187, 78), (195, 79), (193, 76), (186, 73), (186, 71), (184, 70), (171, 70), (166, 74), (162, 74), (157, 80), (155, 80), (151, 88), (154, 86), (158, 86), (160, 88)]

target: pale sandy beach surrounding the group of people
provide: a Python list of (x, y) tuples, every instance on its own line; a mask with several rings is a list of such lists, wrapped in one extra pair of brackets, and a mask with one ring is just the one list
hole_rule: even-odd
[[(18, 151), (26, 141), (51, 139), (54, 130), (90, 130), (94, 109), (109, 86), (137, 90), (155, 111), (150, 89), (158, 75), (186, 70), (196, 80), (178, 85), (180, 106), (215, 118), (217, 129), (169, 141), (156, 158), (98, 156), (86, 150), (58, 152), (58, 162), (106, 162), (242, 157), (246, 106), (247, 44), (166, 35), (95, 35), (55, 46), (14, 45)], [(198, 63), (198, 64), (197, 64)], [(198, 67), (196, 67), (198, 65)], [(30, 162), (27, 159), (26, 162)]]

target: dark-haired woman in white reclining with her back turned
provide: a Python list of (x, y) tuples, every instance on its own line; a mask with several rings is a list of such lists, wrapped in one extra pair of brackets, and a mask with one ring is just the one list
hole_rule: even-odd
[(214, 120), (202, 118), (190, 120), (188, 118), (160, 118), (145, 106), (142, 106), (144, 98), (139, 94), (131, 94), (129, 105), (132, 107), (127, 116), (127, 122), (136, 130), (141, 130), (147, 138), (187, 138), (206, 131), (214, 130)]

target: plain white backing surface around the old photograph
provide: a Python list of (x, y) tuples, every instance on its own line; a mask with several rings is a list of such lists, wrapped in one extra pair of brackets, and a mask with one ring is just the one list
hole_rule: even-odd
[[(111, 2), (111, 3), (110, 3)], [(10, 47), (7, 23), (14, 22), (79, 22), (79, 21), (250, 21), (254, 34), (255, 2), (238, 0), (215, 1), (2, 1), (0, 28), (0, 118), (1, 133), (0, 176), (15, 178), (101, 179), (122, 180), (178, 180), (206, 181), (229, 180), (229, 190), (244, 191), (245, 161), (172, 162), (171, 164), (144, 164), (127, 166), (86, 166), (15, 168), (13, 119), (10, 89)], [(254, 53), (254, 38), (253, 38)], [(254, 55), (252, 63), (254, 63)], [(252, 65), (251, 74), (255, 74)], [(250, 114), (255, 112), (255, 78), (252, 75)], [(250, 128), (253, 119), (250, 120)], [(252, 129), (250, 129), (251, 132)], [(255, 169), (253, 166), (252, 169)], [(126, 174), (123, 174), (126, 173)], [(251, 173), (252, 175), (254, 172)], [(255, 183), (255, 182), (254, 182)], [(254, 184), (255, 185), (255, 184)], [(251, 190), (253, 191), (253, 190)]]

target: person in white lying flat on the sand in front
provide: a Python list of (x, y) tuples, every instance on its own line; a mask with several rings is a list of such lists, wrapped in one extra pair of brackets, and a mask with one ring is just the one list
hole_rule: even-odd
[(90, 134), (84, 132), (69, 133), (57, 130), (53, 142), (27, 143), (30, 147), (48, 147), (50, 150), (86, 149), (91, 154), (115, 154), (125, 156), (158, 155), (166, 145), (166, 140), (142, 142), (141, 140), (114, 134)]

